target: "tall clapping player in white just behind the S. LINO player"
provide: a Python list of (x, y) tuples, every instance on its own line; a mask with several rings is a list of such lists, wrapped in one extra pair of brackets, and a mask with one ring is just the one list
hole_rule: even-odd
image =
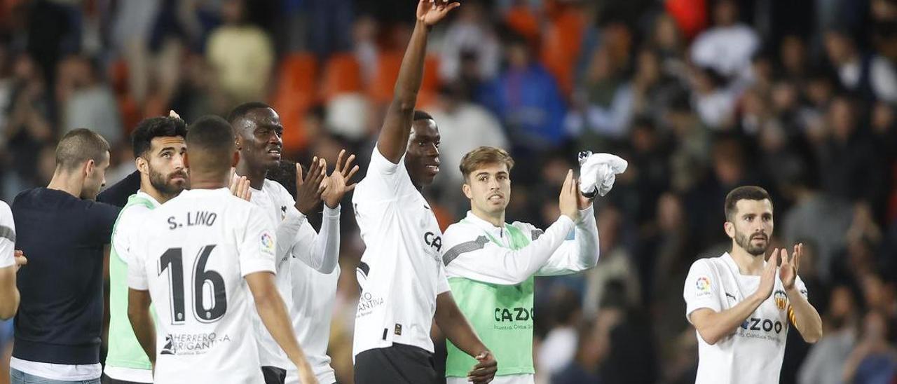
[[(274, 180), (266, 179), (268, 171), (278, 167), (283, 149), (283, 124), (277, 112), (265, 103), (253, 101), (233, 109), (228, 120), (237, 135), (237, 149), (240, 153), (237, 173), (248, 178), (252, 188), (250, 202), (262, 208), (269, 223), (277, 231), (277, 288), (286, 301), (293, 324), (304, 329), (310, 321), (310, 313), (304, 307), (310, 303), (297, 300), (292, 292), (294, 289), (309, 292), (310, 296), (319, 297), (322, 301), (335, 299), (335, 291), (323, 289), (318, 292), (308, 277), (315, 274), (329, 275), (338, 264), (340, 201), (346, 192), (355, 187), (346, 184), (346, 180), (352, 178), (358, 170), (357, 166), (352, 166), (354, 155), (344, 162), (345, 152), (341, 152), (336, 169), (329, 177), (327, 161), (324, 159), (318, 160), (316, 157), (304, 178), (300, 165), (296, 164), (297, 177), (294, 182), (297, 198), (294, 201), (286, 188)], [(307, 216), (313, 213), (322, 199), (325, 202), (324, 217), (318, 234), (308, 222)], [(297, 269), (298, 275), (293, 276), (293, 270)], [(312, 291), (314, 294), (310, 294)], [(304, 294), (301, 296), (299, 299), (307, 298)], [(293, 382), (299, 380), (297, 372), (290, 369), (289, 360), (268, 334), (261, 320), (257, 317), (253, 317), (253, 320), (266, 383), (281, 384), (288, 378)], [(312, 333), (300, 332), (299, 329), (296, 331), (300, 343), (308, 353), (309, 362), (314, 362), (312, 367), (318, 380), (328, 384), (335, 382), (333, 370), (329, 366), (330, 359), (327, 357), (327, 338), (323, 345), (316, 343), (315, 348), (311, 349), (306, 337)]]

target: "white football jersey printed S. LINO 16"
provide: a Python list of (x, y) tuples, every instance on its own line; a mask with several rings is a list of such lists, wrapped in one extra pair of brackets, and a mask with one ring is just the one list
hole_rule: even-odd
[(264, 214), (228, 188), (194, 189), (143, 226), (128, 285), (149, 290), (159, 319), (155, 382), (264, 382), (244, 280), (274, 272), (276, 240)]

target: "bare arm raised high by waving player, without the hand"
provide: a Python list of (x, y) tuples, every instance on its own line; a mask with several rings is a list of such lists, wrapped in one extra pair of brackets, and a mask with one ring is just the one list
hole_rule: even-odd
[(393, 100), (387, 109), (387, 116), (380, 129), (377, 149), (388, 161), (397, 164), (405, 154), (408, 136), (411, 135), (411, 123), (414, 118), (414, 105), (417, 104), (417, 92), (421, 89), (423, 79), (423, 59), (426, 57), (427, 35), (430, 27), (424, 22), (414, 24), (414, 32), (405, 57), (399, 69)]

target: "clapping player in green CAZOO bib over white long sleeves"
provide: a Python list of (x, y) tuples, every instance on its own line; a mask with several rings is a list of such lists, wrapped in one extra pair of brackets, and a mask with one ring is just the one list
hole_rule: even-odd
[[(460, 163), (470, 211), (443, 236), (442, 260), (458, 306), (501, 362), (493, 383), (535, 382), (531, 309), (534, 276), (569, 275), (598, 261), (598, 228), (592, 200), (582, 196), (572, 170), (561, 190), (561, 215), (546, 231), (530, 223), (505, 223), (514, 160), (482, 146)], [(573, 231), (572, 240), (566, 240)], [(448, 384), (467, 382), (470, 360), (448, 346)]]

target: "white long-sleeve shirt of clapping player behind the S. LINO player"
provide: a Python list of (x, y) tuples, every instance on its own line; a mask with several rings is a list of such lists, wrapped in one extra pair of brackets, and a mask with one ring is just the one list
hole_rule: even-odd
[[(293, 258), (315, 269), (318, 272), (329, 274), (333, 272), (339, 257), (339, 212), (340, 208), (329, 208), (324, 205), (324, 220), (321, 223), (320, 233), (316, 232), (304, 214), (296, 209), (296, 202), (292, 195), (275, 181), (266, 179), (262, 189), (252, 188), (250, 202), (262, 208), (268, 219), (276, 228), (277, 249), (276, 267), (277, 276), (274, 283), (280, 292), (283, 302), (287, 306), (290, 318), (298, 315), (297, 305), (302, 305), (293, 300), (293, 285), (306, 285), (307, 289), (314, 287), (308, 280), (294, 279), (291, 263)], [(301, 280), (301, 281), (300, 281)], [(330, 300), (333, 300), (331, 295)], [(293, 368), (292, 362), (283, 353), (280, 345), (274, 341), (268, 333), (261, 319), (253, 315), (253, 326), (257, 334), (259, 360), (262, 366), (274, 366), (283, 369)], [(300, 345), (305, 346), (305, 341), (299, 339)], [(318, 353), (304, 349), (308, 355)], [(321, 354), (327, 353), (327, 346)], [(310, 362), (310, 360), (309, 360)], [(316, 367), (313, 367), (316, 368)]]

